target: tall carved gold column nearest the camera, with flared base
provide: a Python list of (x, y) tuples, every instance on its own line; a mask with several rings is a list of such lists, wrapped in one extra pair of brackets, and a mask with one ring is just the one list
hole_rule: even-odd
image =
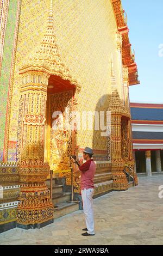
[(48, 77), (38, 71), (22, 74), (17, 152), (21, 192), (17, 223), (26, 229), (53, 222), (53, 204), (45, 184), (49, 166), (44, 162)]

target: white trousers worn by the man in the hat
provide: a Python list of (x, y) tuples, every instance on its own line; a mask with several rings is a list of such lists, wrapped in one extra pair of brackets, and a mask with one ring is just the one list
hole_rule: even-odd
[(85, 216), (85, 222), (87, 227), (87, 233), (93, 235), (95, 234), (94, 230), (94, 217), (93, 217), (93, 193), (94, 188), (89, 188), (86, 190), (81, 191), (82, 192), (82, 200), (83, 200), (83, 211)]

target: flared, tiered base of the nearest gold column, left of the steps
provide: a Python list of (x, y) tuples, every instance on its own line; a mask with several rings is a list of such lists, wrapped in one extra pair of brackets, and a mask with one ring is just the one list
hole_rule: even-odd
[(40, 166), (37, 163), (27, 162), (26, 166), (19, 168), (22, 185), (18, 196), (17, 223), (26, 227), (35, 224), (37, 227), (51, 221), (54, 215), (50, 191), (45, 184), (49, 167), (45, 163), (40, 162)]

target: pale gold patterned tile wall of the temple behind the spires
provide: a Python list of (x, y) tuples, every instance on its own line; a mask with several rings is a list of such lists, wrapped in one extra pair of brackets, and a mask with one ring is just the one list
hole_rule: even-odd
[[(121, 92), (120, 66), (116, 42), (116, 19), (110, 0), (55, 0), (54, 28), (62, 61), (82, 86), (79, 111), (106, 110), (111, 89), (112, 53), (116, 83)], [(9, 141), (17, 140), (20, 75), (18, 69), (27, 61), (43, 37), (49, 1), (22, 0), (18, 29), (14, 83), (11, 100)], [(104, 150), (107, 138), (99, 132), (78, 131), (77, 144)], [(16, 151), (16, 148), (15, 148)]]

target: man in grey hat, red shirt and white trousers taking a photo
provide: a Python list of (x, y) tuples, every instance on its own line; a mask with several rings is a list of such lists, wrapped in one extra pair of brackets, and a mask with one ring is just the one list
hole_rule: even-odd
[[(83, 158), (86, 160), (81, 166), (73, 159), (74, 163), (77, 163), (81, 172), (80, 189), (82, 193), (83, 210), (86, 222), (86, 228), (83, 230), (83, 236), (95, 235), (94, 218), (93, 218), (93, 193), (95, 186), (93, 184), (93, 178), (96, 172), (96, 163), (92, 159), (93, 150), (86, 147), (83, 151)], [(78, 172), (79, 172), (78, 170)]]

